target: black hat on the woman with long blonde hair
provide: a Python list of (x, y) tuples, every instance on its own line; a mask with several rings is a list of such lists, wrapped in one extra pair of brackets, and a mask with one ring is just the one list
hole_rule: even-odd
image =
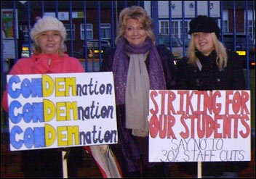
[(190, 30), (188, 34), (191, 33), (215, 33), (217, 37), (220, 37), (220, 28), (217, 26), (217, 22), (212, 17), (207, 17), (206, 15), (199, 15), (191, 22), (189, 22)]

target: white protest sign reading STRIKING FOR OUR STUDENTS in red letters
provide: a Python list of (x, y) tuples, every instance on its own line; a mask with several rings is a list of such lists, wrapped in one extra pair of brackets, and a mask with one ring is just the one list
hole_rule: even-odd
[(250, 91), (151, 90), (149, 162), (251, 159)]

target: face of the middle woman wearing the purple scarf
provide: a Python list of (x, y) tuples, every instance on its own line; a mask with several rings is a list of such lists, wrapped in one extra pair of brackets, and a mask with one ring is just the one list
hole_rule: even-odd
[(145, 38), (147, 38), (143, 24), (135, 19), (127, 20), (124, 38), (126, 38), (129, 44), (132, 46), (142, 45)]

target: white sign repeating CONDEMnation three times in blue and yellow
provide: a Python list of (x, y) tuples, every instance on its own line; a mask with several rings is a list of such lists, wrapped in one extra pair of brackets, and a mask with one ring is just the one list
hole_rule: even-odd
[(112, 72), (7, 75), (11, 151), (117, 143)]

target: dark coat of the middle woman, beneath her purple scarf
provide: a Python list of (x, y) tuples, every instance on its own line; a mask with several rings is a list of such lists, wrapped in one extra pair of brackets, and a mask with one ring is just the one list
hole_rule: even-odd
[[(176, 67), (174, 64), (174, 57), (171, 52), (161, 46), (157, 46), (159, 51), (159, 56), (164, 68), (164, 76), (167, 84), (167, 89), (172, 89), (175, 86), (175, 73)], [(103, 62), (100, 67), (100, 71), (113, 71), (113, 57), (115, 55), (116, 49), (109, 49), (105, 51), (103, 57)], [(145, 60), (146, 66), (148, 67), (149, 58)], [(116, 91), (118, 93), (118, 91)], [(132, 172), (140, 172), (142, 158), (146, 160), (144, 165), (148, 167), (148, 138), (139, 138), (132, 135), (132, 130), (125, 128), (125, 104), (120, 104), (116, 106), (116, 119), (119, 141), (117, 144), (111, 145), (111, 149), (119, 162), (123, 175), (128, 177), (132, 176)], [(172, 164), (170, 164), (172, 165)], [(153, 170), (143, 170), (145, 175), (164, 175), (163, 172)], [(154, 174), (151, 172), (155, 172)], [(137, 176), (137, 175), (136, 175)]]

